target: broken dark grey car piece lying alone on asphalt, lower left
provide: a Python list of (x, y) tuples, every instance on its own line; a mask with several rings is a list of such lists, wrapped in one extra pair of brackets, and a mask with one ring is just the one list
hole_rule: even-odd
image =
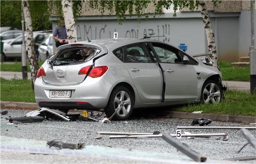
[(48, 145), (50, 148), (53, 146), (58, 147), (60, 149), (83, 149), (85, 146), (84, 143), (62, 141), (58, 139), (49, 140), (47, 141), (46, 145)]

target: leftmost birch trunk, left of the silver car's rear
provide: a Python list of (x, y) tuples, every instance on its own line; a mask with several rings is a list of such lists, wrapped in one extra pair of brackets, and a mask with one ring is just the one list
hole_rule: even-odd
[(37, 78), (37, 73), (38, 73), (38, 58), (34, 50), (33, 27), (32, 27), (32, 19), (31, 19), (30, 6), (28, 3), (28, 0), (23, 0), (22, 4), (23, 4), (24, 20), (26, 22), (26, 47), (27, 47), (28, 59), (30, 63), (32, 88), (34, 91), (34, 84), (35, 84), (35, 80)]

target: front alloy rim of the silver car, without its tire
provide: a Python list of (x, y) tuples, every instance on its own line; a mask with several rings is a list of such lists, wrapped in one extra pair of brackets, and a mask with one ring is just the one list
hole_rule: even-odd
[(218, 103), (221, 100), (221, 91), (218, 85), (214, 83), (209, 83), (203, 90), (203, 102), (208, 103)]

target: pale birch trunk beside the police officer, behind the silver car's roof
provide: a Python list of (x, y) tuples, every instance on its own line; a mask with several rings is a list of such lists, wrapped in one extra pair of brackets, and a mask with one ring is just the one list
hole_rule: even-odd
[(73, 2), (72, 0), (61, 0), (61, 5), (67, 29), (68, 43), (77, 42), (76, 25), (72, 10)]

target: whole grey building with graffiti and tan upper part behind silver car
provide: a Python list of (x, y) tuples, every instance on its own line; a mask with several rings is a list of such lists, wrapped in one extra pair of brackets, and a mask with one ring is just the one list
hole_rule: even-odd
[[(185, 43), (191, 55), (208, 53), (206, 34), (200, 9), (177, 11), (173, 17), (172, 8), (163, 10), (161, 15), (147, 20), (137, 21), (136, 15), (129, 17), (120, 25), (116, 16), (109, 15), (106, 11), (101, 15), (99, 11), (87, 9), (88, 4), (82, 8), (82, 15), (78, 18), (78, 40), (87, 40), (85, 30), (90, 40), (113, 38), (113, 33), (118, 32), (122, 38), (143, 38), (143, 34), (153, 37), (154, 40), (164, 41), (175, 46)], [(214, 7), (207, 1), (211, 25), (215, 33), (215, 43), (220, 61), (237, 62), (240, 57), (248, 56), (251, 45), (250, 1), (222, 1)], [(145, 13), (153, 13), (154, 6), (147, 8)], [(254, 11), (254, 17), (256, 12)], [(57, 18), (51, 17), (53, 29), (57, 26)], [(256, 26), (255, 29), (256, 31)], [(256, 43), (256, 41), (255, 41)]]

